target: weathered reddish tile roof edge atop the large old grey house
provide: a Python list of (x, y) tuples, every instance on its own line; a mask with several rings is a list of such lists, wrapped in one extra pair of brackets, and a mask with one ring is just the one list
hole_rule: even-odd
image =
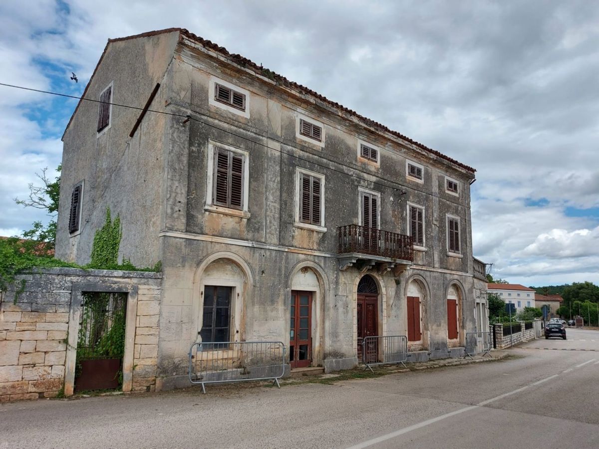
[[(349, 115), (355, 117), (356, 119), (358, 119), (365, 126), (374, 128), (379, 132), (385, 132), (385, 133), (394, 135), (406, 142), (409, 142), (410, 144), (415, 145), (416, 147), (420, 148), (421, 150), (424, 150), (426, 153), (429, 153), (434, 156), (440, 157), (441, 159), (447, 160), (448, 162), (451, 162), (451, 163), (465, 169), (466, 171), (469, 171), (471, 173), (474, 173), (476, 171), (474, 168), (472, 168), (468, 165), (465, 165), (461, 162), (458, 162), (458, 160), (452, 159), (451, 157), (446, 156), (445, 154), (441, 153), (440, 151), (433, 150), (432, 148), (426, 147), (426, 145), (423, 145), (420, 142), (416, 142), (415, 140), (412, 140), (409, 137), (404, 136), (403, 134), (400, 134), (397, 131), (393, 131), (392, 129), (387, 128), (385, 125), (382, 125), (381, 123), (375, 122), (374, 120), (371, 120), (371, 119), (368, 119), (367, 117), (361, 116), (360, 114), (356, 113), (356, 111), (350, 110), (349, 108), (346, 108), (343, 105), (338, 104), (337, 102), (331, 101), (328, 98), (326, 98), (325, 96), (322, 96), (317, 92), (314, 92), (314, 90), (308, 89), (308, 87), (302, 86), (301, 84), (298, 84), (298, 83), (294, 83), (294, 81), (289, 81), (287, 78), (283, 77), (283, 75), (279, 75), (271, 70), (268, 70), (267, 68), (258, 66), (252, 60), (249, 60), (249, 59), (241, 56), (241, 54), (231, 54), (225, 47), (220, 47), (219, 45), (217, 45), (211, 41), (208, 41), (199, 36), (196, 36), (195, 34), (187, 31), (187, 29), (184, 29), (184, 28), (167, 28), (167, 29), (158, 30), (158, 31), (150, 31), (150, 32), (142, 33), (142, 34), (136, 34), (136, 35), (132, 35), (132, 36), (128, 36), (128, 37), (109, 39), (108, 44), (106, 45), (106, 48), (112, 42), (124, 41), (124, 40), (135, 39), (135, 38), (150, 37), (150, 36), (155, 36), (155, 35), (159, 35), (159, 34), (174, 32), (174, 31), (179, 31), (180, 34), (184, 35), (185, 37), (189, 38), (190, 40), (197, 42), (198, 44), (202, 45), (202, 47), (212, 50), (215, 53), (219, 53), (222, 56), (225, 56), (226, 59), (229, 60), (229, 62), (232, 62), (234, 64), (242, 66), (245, 69), (249, 69), (249, 70), (255, 72), (255, 74), (257, 74), (257, 75), (268, 76), (268, 78), (270, 78), (271, 80), (274, 80), (277, 84), (285, 86), (288, 89), (295, 90), (295, 92), (298, 92), (302, 95), (311, 96), (314, 99), (322, 101), (322, 102), (326, 103), (327, 105), (329, 105), (330, 107), (335, 108), (338, 111), (341, 111), (342, 113), (349, 114)], [(104, 53), (106, 53), (106, 48), (104, 48)], [(102, 56), (100, 57), (100, 59), (98, 61), (98, 65), (102, 61), (102, 57), (104, 56), (104, 53), (102, 53)], [(94, 71), (93, 71), (94, 73), (98, 69), (98, 65), (96, 65), (96, 69), (94, 69)], [(93, 74), (92, 74), (92, 78), (93, 78)], [(90, 82), (91, 82), (92, 78), (90, 78)], [(87, 85), (89, 86), (89, 83)], [(86, 86), (85, 92), (83, 93), (83, 96), (85, 96), (86, 92), (87, 92), (87, 86)], [(78, 108), (78, 106), (79, 105), (77, 105), (77, 108)], [(77, 112), (77, 108), (75, 108), (75, 112)], [(75, 112), (73, 113), (73, 116), (75, 115)], [(72, 116), (71, 116), (71, 120), (69, 120), (68, 125), (66, 125), (66, 129), (68, 129), (69, 125), (71, 124), (71, 121), (72, 121)], [(65, 129), (65, 132), (66, 132), (66, 129)], [(63, 135), (63, 137), (64, 137), (64, 135)]]

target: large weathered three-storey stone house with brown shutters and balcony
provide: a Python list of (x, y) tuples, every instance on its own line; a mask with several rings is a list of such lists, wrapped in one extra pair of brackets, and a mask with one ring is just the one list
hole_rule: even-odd
[(109, 40), (84, 98), (56, 256), (89, 262), (110, 208), (120, 255), (161, 260), (157, 389), (195, 341), (282, 341), (327, 370), (366, 335), (463, 353), (473, 168), (184, 29)]

